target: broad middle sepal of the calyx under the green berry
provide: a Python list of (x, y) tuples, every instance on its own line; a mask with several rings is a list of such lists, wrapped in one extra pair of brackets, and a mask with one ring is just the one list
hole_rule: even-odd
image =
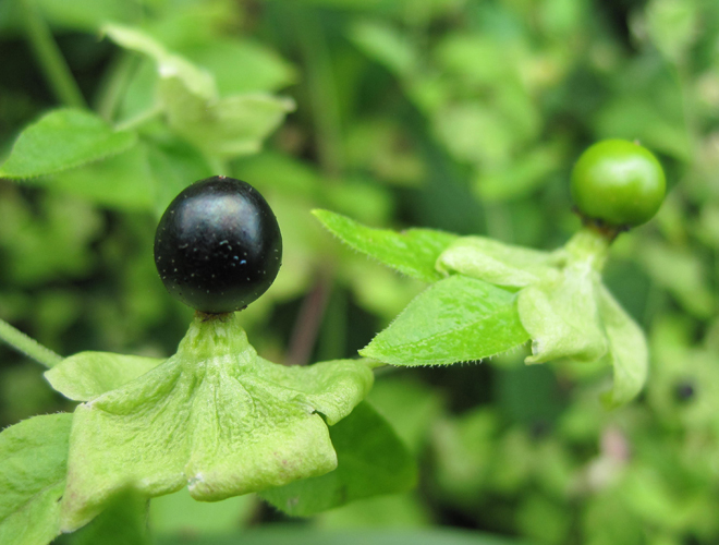
[(560, 358), (592, 362), (607, 353), (597, 307), (600, 283), (590, 263), (580, 261), (520, 291), (520, 318), (532, 337), (532, 355), (526, 363)]

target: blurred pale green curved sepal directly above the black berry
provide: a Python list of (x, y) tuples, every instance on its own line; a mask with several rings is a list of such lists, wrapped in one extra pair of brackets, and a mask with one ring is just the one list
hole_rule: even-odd
[(292, 99), (264, 93), (206, 100), (174, 76), (160, 81), (160, 98), (178, 134), (207, 155), (226, 158), (259, 152), (263, 140), (294, 110)]

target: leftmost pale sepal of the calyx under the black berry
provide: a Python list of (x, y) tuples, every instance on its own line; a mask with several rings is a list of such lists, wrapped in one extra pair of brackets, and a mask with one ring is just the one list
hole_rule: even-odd
[(120, 388), (163, 361), (112, 352), (80, 352), (45, 372), (45, 378), (66, 398), (87, 401)]

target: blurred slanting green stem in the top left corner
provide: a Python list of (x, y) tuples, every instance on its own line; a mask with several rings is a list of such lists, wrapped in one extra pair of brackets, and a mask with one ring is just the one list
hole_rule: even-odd
[(21, 5), (24, 12), (27, 38), (54, 96), (65, 106), (86, 108), (87, 105), (83, 94), (80, 92), (70, 68), (35, 2), (33, 0), (22, 0)]

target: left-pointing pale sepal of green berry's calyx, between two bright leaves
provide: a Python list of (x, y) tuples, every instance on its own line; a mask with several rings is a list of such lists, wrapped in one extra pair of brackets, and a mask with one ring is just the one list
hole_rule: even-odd
[(485, 237), (462, 237), (437, 259), (437, 269), (460, 272), (495, 286), (524, 288), (551, 272), (552, 254)]

